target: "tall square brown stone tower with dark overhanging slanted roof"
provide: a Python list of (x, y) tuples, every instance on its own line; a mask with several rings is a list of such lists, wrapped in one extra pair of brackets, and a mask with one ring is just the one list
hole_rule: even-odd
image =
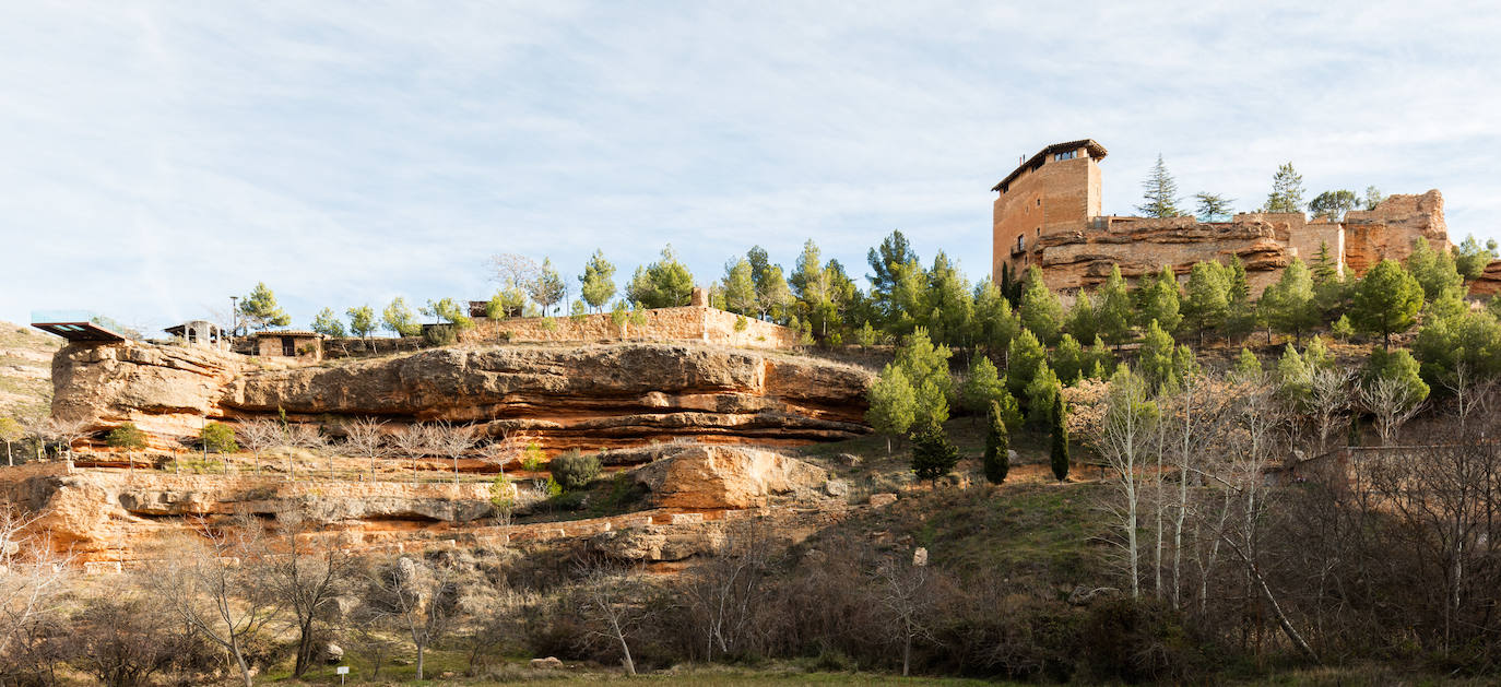
[(1105, 146), (1091, 138), (1055, 142), (1024, 160), (991, 190), (991, 279), (1003, 267), (1021, 276), (1037, 264), (1037, 240), (1054, 231), (1076, 231), (1100, 214), (1100, 165)]

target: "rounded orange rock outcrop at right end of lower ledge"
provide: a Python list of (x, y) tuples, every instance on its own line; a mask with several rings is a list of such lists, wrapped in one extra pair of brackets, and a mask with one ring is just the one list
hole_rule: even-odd
[(630, 471), (662, 508), (763, 507), (779, 494), (812, 492), (829, 482), (823, 468), (781, 453), (690, 446)]

